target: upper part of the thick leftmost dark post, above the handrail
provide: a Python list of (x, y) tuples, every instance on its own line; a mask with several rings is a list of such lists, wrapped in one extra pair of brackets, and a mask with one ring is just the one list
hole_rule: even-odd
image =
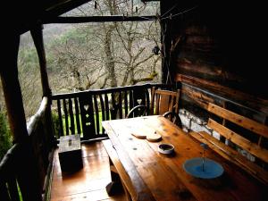
[(26, 119), (23, 108), (21, 86), (18, 78), (18, 51), (20, 35), (4, 38), (8, 46), (4, 48), (6, 67), (0, 69), (1, 80), (4, 90), (4, 100), (8, 114), (8, 121), (13, 133), (13, 142), (21, 142), (28, 138)]

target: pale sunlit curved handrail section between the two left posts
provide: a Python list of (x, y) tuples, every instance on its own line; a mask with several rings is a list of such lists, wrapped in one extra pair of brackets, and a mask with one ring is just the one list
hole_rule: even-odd
[(36, 126), (38, 125), (38, 121), (45, 115), (46, 108), (48, 104), (48, 97), (44, 96), (41, 102), (41, 105), (38, 109), (38, 112), (32, 115), (27, 123), (27, 130), (29, 135), (35, 130)]

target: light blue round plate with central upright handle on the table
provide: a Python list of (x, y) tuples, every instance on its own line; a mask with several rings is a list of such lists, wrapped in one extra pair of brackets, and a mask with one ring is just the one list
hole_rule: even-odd
[(223, 168), (220, 163), (214, 162), (211, 159), (205, 158), (204, 171), (202, 170), (203, 158), (191, 158), (183, 163), (183, 169), (188, 174), (202, 179), (214, 179), (220, 177), (223, 173)]

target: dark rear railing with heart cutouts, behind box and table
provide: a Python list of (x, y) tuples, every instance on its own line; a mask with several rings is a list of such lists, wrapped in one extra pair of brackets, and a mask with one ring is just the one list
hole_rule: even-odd
[(154, 86), (165, 87), (145, 84), (52, 96), (58, 117), (57, 138), (71, 134), (80, 134), (82, 140), (107, 137), (101, 121), (125, 118), (136, 105), (149, 108), (150, 90)]

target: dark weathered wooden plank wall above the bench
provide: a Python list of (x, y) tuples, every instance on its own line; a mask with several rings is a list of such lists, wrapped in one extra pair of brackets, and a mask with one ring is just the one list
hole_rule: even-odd
[(181, 81), (183, 107), (202, 116), (212, 102), (267, 123), (261, 11), (228, 0), (174, 0), (162, 4), (162, 13), (173, 5), (165, 38), (170, 38), (171, 71), (173, 80)]

